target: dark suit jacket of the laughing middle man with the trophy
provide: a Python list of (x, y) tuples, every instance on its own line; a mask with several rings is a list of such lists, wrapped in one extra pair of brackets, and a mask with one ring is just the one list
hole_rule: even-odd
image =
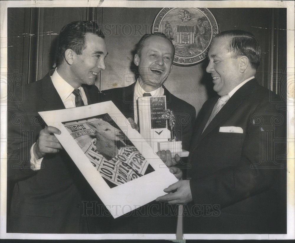
[[(134, 119), (133, 96), (134, 85), (103, 91), (103, 101), (111, 99), (119, 110)], [(196, 111), (193, 106), (172, 95), (164, 86), (167, 109), (176, 116), (176, 128), (181, 130), (181, 141), (184, 149), (189, 149)], [(98, 202), (101, 205), (101, 202)], [(104, 211), (101, 215), (107, 215)], [(150, 202), (132, 212), (113, 219), (111, 216), (92, 217), (96, 225), (92, 233), (136, 233), (136, 234), (175, 234), (177, 206), (163, 202)]]

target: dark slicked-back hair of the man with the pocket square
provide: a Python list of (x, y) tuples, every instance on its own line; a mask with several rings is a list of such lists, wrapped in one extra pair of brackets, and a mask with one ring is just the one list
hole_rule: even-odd
[(215, 38), (229, 37), (230, 46), (228, 51), (233, 58), (247, 56), (251, 67), (257, 69), (260, 64), (261, 48), (257, 38), (250, 32), (244, 30), (227, 30), (219, 33)]

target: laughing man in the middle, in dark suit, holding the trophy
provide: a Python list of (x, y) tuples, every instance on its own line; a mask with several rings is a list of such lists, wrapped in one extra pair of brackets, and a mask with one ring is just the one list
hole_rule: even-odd
[[(166, 96), (166, 108), (173, 111), (178, 129), (178, 140), (182, 148), (189, 150), (196, 110), (189, 103), (172, 95), (163, 83), (172, 69), (175, 48), (163, 33), (145, 34), (136, 45), (134, 63), (138, 66), (139, 76), (132, 85), (123, 88), (105, 90), (102, 93), (110, 98), (119, 110), (137, 122), (137, 99), (142, 96)], [(140, 128), (141, 124), (139, 124)], [(141, 129), (141, 128), (140, 128)], [(165, 151), (158, 154), (165, 161)], [(171, 154), (170, 154), (171, 158)], [(177, 160), (177, 159), (176, 159)], [(173, 162), (167, 161), (167, 165)], [(179, 168), (171, 169), (178, 179), (182, 172)], [(129, 216), (121, 216), (115, 220), (108, 217), (100, 226), (99, 232), (105, 233), (145, 233), (145, 234), (175, 234), (177, 208), (155, 201), (134, 210)], [(104, 227), (104, 229), (101, 229)]]

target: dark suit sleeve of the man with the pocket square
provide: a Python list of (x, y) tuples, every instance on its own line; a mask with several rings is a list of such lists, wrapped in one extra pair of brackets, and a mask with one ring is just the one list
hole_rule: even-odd
[[(269, 131), (266, 131), (268, 127), (274, 127), (275, 139), (286, 139), (285, 111), (276, 109), (276, 104), (263, 100), (249, 117), (241, 156), (235, 166), (225, 167), (203, 178), (191, 179), (190, 187), (194, 203), (218, 204), (221, 208), (232, 205), (271, 187), (276, 176), (284, 171), (278, 169), (278, 164), (286, 168), (285, 160), (277, 160), (280, 155), (286, 154), (286, 141), (278, 142), (272, 147), (268, 139)], [(272, 154), (272, 149), (274, 157), (263, 158)], [(216, 161), (216, 163), (222, 162), (233, 164), (230, 161)], [(259, 165), (260, 168), (255, 165)]]

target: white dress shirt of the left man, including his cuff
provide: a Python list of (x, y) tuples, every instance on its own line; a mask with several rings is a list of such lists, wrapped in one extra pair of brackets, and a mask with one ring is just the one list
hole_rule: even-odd
[[(52, 76), (51, 76), (51, 80), (53, 83), (54, 88), (56, 89), (58, 95), (60, 96), (61, 100), (63, 101), (63, 104), (65, 106), (65, 108), (74, 108), (76, 107), (76, 103), (75, 103), (75, 98), (76, 96), (72, 93), (74, 91), (74, 88), (68, 83), (66, 82), (62, 77), (60, 77), (60, 75), (57, 72), (57, 69), (55, 69), (55, 71), (53, 72)], [(86, 106), (87, 103), (87, 98), (86, 98), (86, 94), (84, 92), (84, 89), (80, 86), (78, 88), (80, 90), (80, 94), (82, 96), (82, 100), (84, 102), (84, 105)], [(40, 170), (41, 169), (41, 162), (43, 158), (36, 158), (36, 154), (34, 151), (35, 148), (35, 143), (32, 145), (31, 147), (31, 169), (32, 170)]]

